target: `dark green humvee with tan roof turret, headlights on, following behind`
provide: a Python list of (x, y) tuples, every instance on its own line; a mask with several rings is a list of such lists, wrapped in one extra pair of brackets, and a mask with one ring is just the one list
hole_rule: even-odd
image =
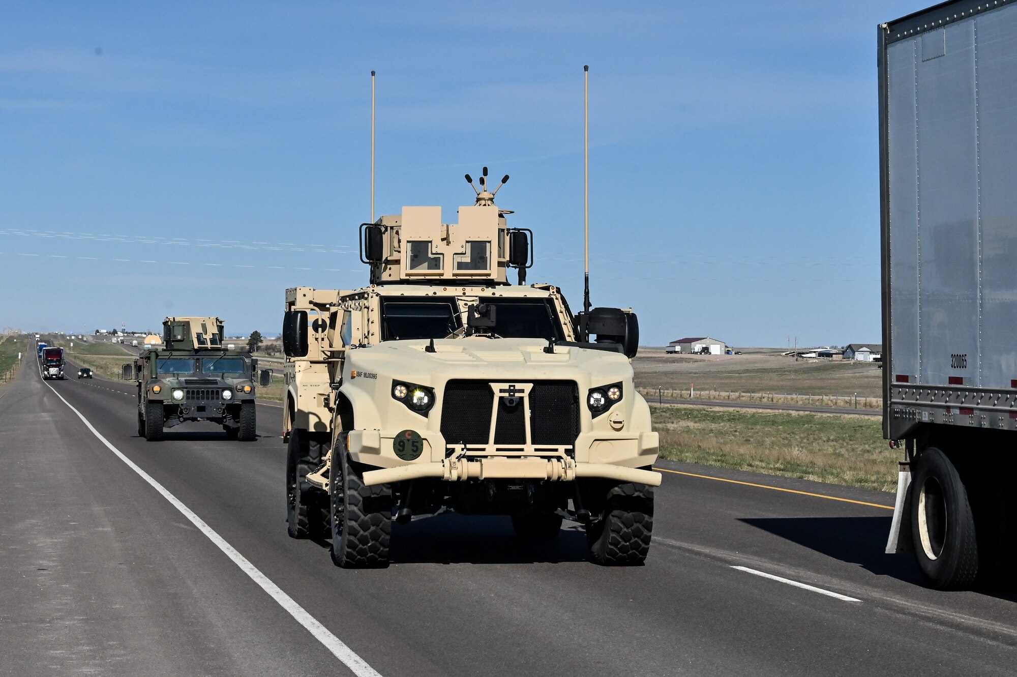
[[(222, 424), (228, 437), (257, 437), (254, 374), (257, 360), (223, 345), (218, 317), (167, 317), (163, 348), (141, 352), (123, 366), (123, 379), (137, 383), (137, 434), (148, 441), (185, 421)], [(271, 370), (259, 384), (268, 385)]]

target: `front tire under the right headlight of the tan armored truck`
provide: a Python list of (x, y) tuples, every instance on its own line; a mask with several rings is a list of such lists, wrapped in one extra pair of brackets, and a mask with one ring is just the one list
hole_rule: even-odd
[(600, 518), (587, 525), (590, 557), (605, 566), (642, 564), (653, 533), (653, 487), (617, 484), (607, 492)]

